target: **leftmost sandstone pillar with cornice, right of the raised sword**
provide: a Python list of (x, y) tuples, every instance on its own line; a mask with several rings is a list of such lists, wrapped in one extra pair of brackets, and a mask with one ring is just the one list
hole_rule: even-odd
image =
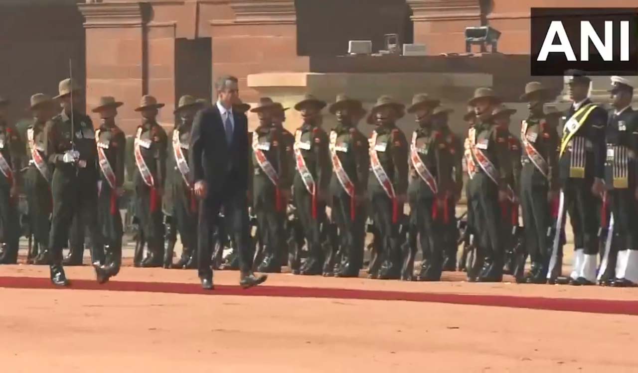
[(140, 3), (78, 4), (78, 8), (85, 17), (87, 113), (93, 115), (91, 108), (100, 96), (112, 95), (126, 103), (119, 109), (118, 123), (131, 133), (139, 123), (133, 109), (144, 94)]

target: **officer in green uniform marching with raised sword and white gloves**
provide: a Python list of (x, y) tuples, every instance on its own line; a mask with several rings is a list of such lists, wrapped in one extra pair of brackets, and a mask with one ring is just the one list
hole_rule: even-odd
[[(51, 181), (53, 213), (49, 236), (51, 281), (67, 286), (62, 266), (62, 248), (68, 237), (73, 216), (81, 216), (91, 232), (91, 262), (103, 262), (104, 250), (98, 229), (98, 155), (95, 146), (93, 122), (79, 113), (79, 88), (75, 81), (66, 79), (59, 84), (62, 113), (54, 116), (45, 126), (45, 155), (55, 167)], [(75, 93), (75, 94), (74, 94)]]

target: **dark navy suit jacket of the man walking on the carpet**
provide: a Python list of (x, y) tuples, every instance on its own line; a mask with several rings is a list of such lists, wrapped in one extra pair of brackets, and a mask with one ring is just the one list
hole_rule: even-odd
[(248, 118), (235, 111), (233, 118), (230, 144), (217, 105), (200, 110), (193, 121), (188, 152), (191, 180), (207, 182), (207, 199), (248, 190)]

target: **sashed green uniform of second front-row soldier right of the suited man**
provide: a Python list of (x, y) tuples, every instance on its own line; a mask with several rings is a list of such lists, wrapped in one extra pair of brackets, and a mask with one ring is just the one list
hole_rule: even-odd
[(321, 227), (327, 222), (325, 213), (326, 201), (321, 201), (318, 194), (327, 196), (330, 183), (330, 151), (328, 149), (328, 135), (320, 127), (304, 124), (301, 131), (299, 146), (302, 157), (306, 160), (306, 167), (315, 181), (315, 197), (310, 194), (299, 171), (293, 179), (294, 199), (299, 219), (304, 229), (308, 244), (308, 260), (300, 268), (301, 274), (321, 274), (323, 269), (323, 251), (321, 241)]

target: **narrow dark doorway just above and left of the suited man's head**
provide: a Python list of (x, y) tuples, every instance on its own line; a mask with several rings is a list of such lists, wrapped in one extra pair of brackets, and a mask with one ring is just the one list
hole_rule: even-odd
[(175, 100), (182, 95), (211, 101), (211, 38), (175, 39)]

